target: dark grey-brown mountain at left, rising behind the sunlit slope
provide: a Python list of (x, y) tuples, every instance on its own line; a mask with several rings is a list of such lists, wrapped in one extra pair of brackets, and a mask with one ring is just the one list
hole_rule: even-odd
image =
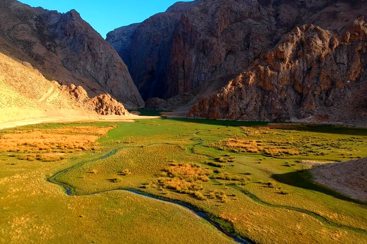
[(1, 52), (28, 61), (50, 80), (76, 83), (88, 93), (110, 93), (129, 107), (144, 106), (117, 52), (75, 11), (0, 5)]

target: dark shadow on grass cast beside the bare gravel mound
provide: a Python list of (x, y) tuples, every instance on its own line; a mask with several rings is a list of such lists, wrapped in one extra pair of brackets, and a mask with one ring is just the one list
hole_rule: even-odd
[(311, 174), (308, 170), (299, 170), (299, 171), (289, 172), (289, 173), (284, 173), (284, 174), (273, 174), (272, 179), (279, 181), (280, 183), (283, 183), (283, 184), (321, 192), (323, 194), (333, 196), (334, 198), (337, 198), (340, 200), (367, 206), (366, 202), (349, 198), (348, 196), (342, 195), (338, 192), (335, 192), (331, 189), (328, 189), (326, 187), (323, 187), (319, 184), (314, 183), (311, 179)]

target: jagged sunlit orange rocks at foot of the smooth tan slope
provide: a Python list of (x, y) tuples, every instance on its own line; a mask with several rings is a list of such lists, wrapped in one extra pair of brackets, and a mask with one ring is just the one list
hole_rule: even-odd
[(100, 115), (129, 115), (124, 105), (117, 102), (116, 99), (112, 98), (109, 94), (102, 94), (89, 98), (83, 87), (73, 84), (59, 86), (59, 89), (68, 93), (86, 109), (97, 112)]

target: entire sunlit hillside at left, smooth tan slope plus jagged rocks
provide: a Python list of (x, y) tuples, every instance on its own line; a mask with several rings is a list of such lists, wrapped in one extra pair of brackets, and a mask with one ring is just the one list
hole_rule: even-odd
[(24, 119), (129, 115), (109, 94), (89, 98), (81, 86), (60, 86), (28, 62), (0, 53), (0, 123)]

